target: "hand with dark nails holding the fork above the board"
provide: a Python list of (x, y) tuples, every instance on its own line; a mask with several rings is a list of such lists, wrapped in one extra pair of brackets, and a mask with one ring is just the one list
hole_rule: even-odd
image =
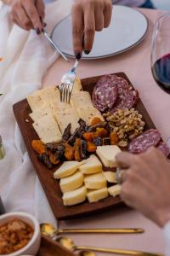
[[(111, 0), (75, 0), (72, 9), (73, 48), (77, 59), (82, 50), (89, 54), (94, 44), (95, 31), (102, 31), (111, 22)], [(82, 40), (84, 38), (84, 40)], [(82, 41), (83, 45), (82, 45)]]

